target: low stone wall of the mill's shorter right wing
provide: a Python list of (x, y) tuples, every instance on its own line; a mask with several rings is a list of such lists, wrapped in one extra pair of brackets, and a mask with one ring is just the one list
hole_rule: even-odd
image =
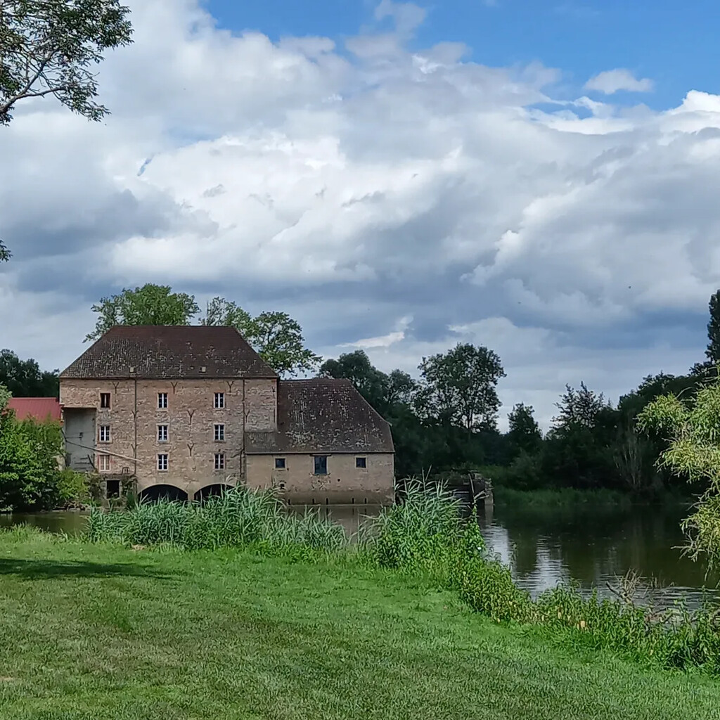
[[(285, 459), (284, 469), (275, 469), (275, 458)], [(356, 457), (366, 458), (366, 468), (355, 467)], [(393, 456), (377, 454), (328, 455), (328, 474), (314, 474), (312, 455), (248, 455), (248, 487), (274, 487), (294, 504), (387, 504), (392, 503)]]

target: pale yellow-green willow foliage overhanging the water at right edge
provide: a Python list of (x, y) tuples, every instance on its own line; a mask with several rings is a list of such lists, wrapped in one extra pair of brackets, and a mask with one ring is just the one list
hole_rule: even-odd
[(663, 436), (660, 465), (690, 482), (703, 482), (695, 511), (683, 521), (688, 553), (720, 564), (720, 381), (703, 385), (692, 400), (661, 395), (638, 415), (642, 431)]

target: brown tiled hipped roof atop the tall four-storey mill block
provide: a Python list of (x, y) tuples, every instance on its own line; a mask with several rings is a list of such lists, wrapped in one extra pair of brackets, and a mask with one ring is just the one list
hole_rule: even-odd
[[(130, 368), (135, 368), (133, 374)], [(127, 377), (252, 378), (277, 374), (238, 330), (204, 325), (117, 325), (60, 373), (60, 379)]]

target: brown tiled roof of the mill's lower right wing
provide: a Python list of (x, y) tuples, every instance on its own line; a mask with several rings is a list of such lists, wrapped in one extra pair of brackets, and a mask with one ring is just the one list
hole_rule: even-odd
[(390, 425), (349, 380), (281, 380), (278, 431), (248, 432), (248, 454), (392, 452)]

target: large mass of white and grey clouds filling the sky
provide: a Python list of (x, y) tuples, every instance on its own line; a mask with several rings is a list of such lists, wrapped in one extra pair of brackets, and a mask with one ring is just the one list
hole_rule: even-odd
[(344, 45), (234, 35), (195, 0), (133, 12), (107, 122), (38, 101), (0, 131), (0, 346), (64, 366), (91, 302), (163, 282), (287, 310), (318, 351), (386, 370), (485, 344), (505, 410), (545, 422), (566, 382), (616, 398), (701, 359), (720, 97), (561, 99), (554, 68), (418, 49), (411, 4)]

